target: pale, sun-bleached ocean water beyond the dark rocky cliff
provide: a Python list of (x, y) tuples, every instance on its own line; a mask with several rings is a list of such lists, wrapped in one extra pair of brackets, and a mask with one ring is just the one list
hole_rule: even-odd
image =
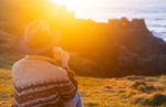
[(69, 11), (74, 10), (75, 18), (96, 22), (122, 17), (129, 21), (144, 19), (147, 29), (166, 41), (166, 0), (72, 0), (66, 3), (66, 8)]

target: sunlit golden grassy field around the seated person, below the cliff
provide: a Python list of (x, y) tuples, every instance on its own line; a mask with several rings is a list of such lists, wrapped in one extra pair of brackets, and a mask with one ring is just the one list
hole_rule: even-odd
[[(166, 107), (166, 76), (80, 77), (85, 107)], [(0, 69), (0, 107), (13, 103), (11, 71)]]

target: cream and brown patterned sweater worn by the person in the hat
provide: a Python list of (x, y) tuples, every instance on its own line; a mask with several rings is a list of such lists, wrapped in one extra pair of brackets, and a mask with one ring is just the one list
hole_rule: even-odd
[(73, 98), (77, 82), (51, 57), (27, 55), (12, 67), (14, 106), (54, 106)]

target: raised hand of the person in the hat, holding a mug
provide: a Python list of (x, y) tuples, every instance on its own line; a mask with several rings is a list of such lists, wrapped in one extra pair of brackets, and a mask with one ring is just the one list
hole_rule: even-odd
[(65, 51), (61, 51), (62, 67), (68, 67), (69, 58), (70, 58), (70, 54)]

